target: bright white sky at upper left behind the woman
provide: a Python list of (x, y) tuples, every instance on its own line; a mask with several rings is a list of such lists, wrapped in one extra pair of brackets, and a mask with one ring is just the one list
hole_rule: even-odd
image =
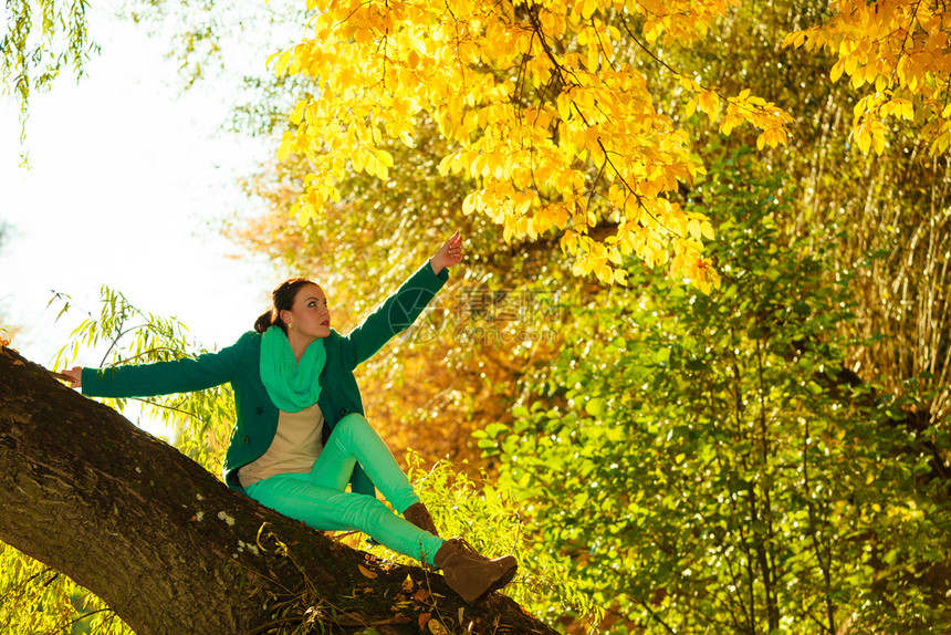
[[(17, 326), (13, 347), (46, 367), (85, 316), (58, 322), (59, 305), (46, 306), (54, 292), (98, 314), (108, 285), (216, 348), (251, 329), (280, 282), (264, 258), (216, 229), (260, 210), (237, 180), (274, 152), (272, 142), (223, 131), (227, 80), (182, 93), (166, 41), (97, 7), (90, 31), (102, 52), (87, 76), (61, 77), (31, 100), (29, 169), (18, 106), (0, 95), (0, 325)], [(265, 59), (238, 59), (260, 66), (230, 71), (259, 72)], [(101, 357), (81, 351), (76, 363)]]

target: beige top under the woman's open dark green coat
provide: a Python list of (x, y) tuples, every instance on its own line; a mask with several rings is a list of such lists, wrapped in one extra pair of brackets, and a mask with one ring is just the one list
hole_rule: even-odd
[(278, 433), (268, 451), (257, 461), (238, 470), (241, 487), (279, 473), (311, 471), (324, 449), (321, 438), (323, 427), (324, 414), (317, 404), (300, 413), (281, 410), (278, 416)]

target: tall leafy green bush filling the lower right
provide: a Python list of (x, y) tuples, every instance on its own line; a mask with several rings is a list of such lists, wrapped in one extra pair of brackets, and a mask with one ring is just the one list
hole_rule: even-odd
[(619, 633), (948, 623), (951, 509), (929, 446), (948, 435), (849, 372), (853, 279), (824, 279), (826, 237), (781, 240), (780, 186), (711, 170), (703, 204), (729, 192), (722, 292), (642, 278), (578, 306), (536, 399), (481, 435)]

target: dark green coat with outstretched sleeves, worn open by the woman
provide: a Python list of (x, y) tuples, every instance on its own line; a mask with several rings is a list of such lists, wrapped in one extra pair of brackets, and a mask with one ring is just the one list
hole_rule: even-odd
[[(324, 341), (327, 357), (320, 377), (323, 391), (317, 399), (325, 420), (324, 443), (344, 416), (364, 414), (354, 368), (409, 327), (448, 278), (448, 270), (436, 275), (427, 261), (349, 334), (331, 330)], [(94, 397), (151, 397), (202, 391), (230, 382), (238, 420), (224, 457), (224, 482), (243, 491), (238, 470), (259, 459), (278, 430), (279, 410), (261, 383), (260, 360), (261, 334), (248, 332), (231, 346), (196, 358), (105, 371), (83, 368), (82, 391)], [(359, 465), (354, 469), (351, 488), (375, 496), (374, 485)]]

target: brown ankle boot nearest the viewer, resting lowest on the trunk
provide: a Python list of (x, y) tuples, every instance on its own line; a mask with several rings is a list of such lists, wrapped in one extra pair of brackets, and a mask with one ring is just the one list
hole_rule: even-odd
[(446, 541), (433, 558), (436, 566), (449, 587), (467, 604), (474, 604), (492, 591), (511, 582), (519, 569), (515, 556), (503, 555), (489, 560), (459, 538)]

